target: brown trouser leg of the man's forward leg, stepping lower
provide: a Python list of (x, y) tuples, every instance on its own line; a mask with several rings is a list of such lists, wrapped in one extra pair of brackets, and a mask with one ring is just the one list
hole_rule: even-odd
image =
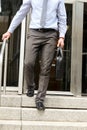
[(42, 43), (42, 48), (40, 51), (41, 70), (39, 75), (39, 88), (36, 96), (37, 107), (38, 102), (43, 102), (46, 95), (46, 90), (49, 83), (51, 64), (54, 58), (57, 44), (57, 32), (53, 31), (45, 35), (47, 35), (47, 37), (45, 36), (45, 40), (44, 43)]

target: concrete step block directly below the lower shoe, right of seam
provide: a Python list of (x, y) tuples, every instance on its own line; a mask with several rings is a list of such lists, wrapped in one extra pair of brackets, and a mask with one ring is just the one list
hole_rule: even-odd
[(58, 122), (87, 122), (87, 110), (76, 109), (46, 109), (38, 111), (35, 108), (23, 108), (24, 121), (58, 121)]

